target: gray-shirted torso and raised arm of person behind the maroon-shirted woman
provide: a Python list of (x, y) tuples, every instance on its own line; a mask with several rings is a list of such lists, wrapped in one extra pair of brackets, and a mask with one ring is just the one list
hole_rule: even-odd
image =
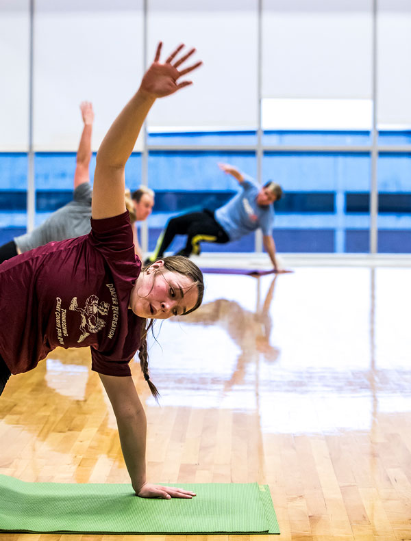
[(82, 111), (84, 128), (77, 150), (73, 201), (53, 212), (45, 222), (32, 232), (15, 237), (12, 241), (0, 246), (0, 263), (48, 242), (62, 241), (89, 233), (92, 196), (89, 166), (94, 111), (92, 104), (88, 101), (84, 101), (80, 105), (80, 110)]

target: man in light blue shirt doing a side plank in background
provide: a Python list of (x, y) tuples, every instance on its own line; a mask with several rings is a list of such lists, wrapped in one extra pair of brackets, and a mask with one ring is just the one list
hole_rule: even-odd
[(240, 192), (214, 213), (204, 209), (201, 212), (171, 218), (147, 262), (161, 259), (175, 235), (187, 235), (186, 246), (178, 252), (178, 255), (189, 257), (191, 254), (200, 253), (201, 241), (217, 243), (235, 241), (261, 228), (264, 248), (274, 269), (278, 269), (272, 235), (273, 202), (282, 198), (281, 186), (270, 181), (261, 187), (228, 163), (219, 163), (219, 168), (234, 176), (241, 187)]

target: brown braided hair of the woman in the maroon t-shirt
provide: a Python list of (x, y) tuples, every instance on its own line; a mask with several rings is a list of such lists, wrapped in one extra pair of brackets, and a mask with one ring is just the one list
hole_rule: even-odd
[[(197, 296), (197, 302), (195, 303), (195, 306), (193, 306), (190, 310), (188, 310), (184, 315), (190, 314), (191, 312), (194, 312), (199, 308), (201, 305), (201, 302), (203, 301), (203, 294), (204, 294), (204, 279), (203, 279), (203, 273), (195, 265), (195, 263), (192, 263), (190, 259), (184, 256), (169, 256), (164, 257), (162, 259), (164, 261), (164, 268), (171, 271), (171, 272), (177, 272), (178, 274), (183, 274), (184, 276), (188, 276), (188, 278), (191, 278), (192, 285), (197, 286), (198, 290), (198, 296)], [(141, 272), (144, 272), (150, 265), (153, 265), (153, 263), (149, 263), (149, 265), (145, 265), (145, 267), (142, 267)], [(144, 375), (144, 379), (147, 381), (147, 384), (149, 385), (151, 394), (155, 398), (156, 401), (158, 401), (158, 397), (160, 396), (160, 393), (157, 390), (157, 387), (151, 382), (150, 375), (149, 375), (149, 354), (147, 352), (147, 334), (150, 329), (153, 328), (154, 319), (151, 319), (149, 324), (147, 325), (147, 319), (145, 319), (145, 330), (142, 332), (141, 336), (141, 343), (140, 348), (138, 351), (138, 358), (140, 359), (140, 367), (142, 374)]]

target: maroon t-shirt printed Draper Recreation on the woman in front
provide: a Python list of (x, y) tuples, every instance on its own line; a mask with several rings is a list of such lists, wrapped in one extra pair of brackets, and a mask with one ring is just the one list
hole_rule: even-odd
[(128, 211), (2, 263), (0, 355), (10, 371), (33, 369), (57, 346), (90, 346), (92, 370), (130, 375), (143, 320), (129, 297), (140, 268)]

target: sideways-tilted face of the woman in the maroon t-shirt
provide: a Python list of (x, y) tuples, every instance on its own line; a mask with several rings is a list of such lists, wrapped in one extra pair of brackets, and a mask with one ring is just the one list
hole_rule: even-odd
[(191, 278), (167, 270), (160, 260), (138, 276), (129, 307), (140, 317), (168, 319), (190, 311), (197, 298), (197, 285), (193, 285)]

